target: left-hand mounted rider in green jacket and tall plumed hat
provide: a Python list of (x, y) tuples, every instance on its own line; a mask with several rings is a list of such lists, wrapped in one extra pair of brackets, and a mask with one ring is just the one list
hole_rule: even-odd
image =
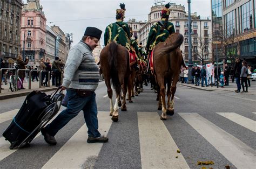
[(137, 55), (136, 51), (131, 45), (132, 34), (130, 32), (129, 25), (124, 21), (125, 13), (125, 4), (120, 4), (121, 9), (116, 10), (116, 19), (115, 23), (112, 23), (106, 27), (104, 34), (104, 45), (111, 43), (111, 41), (116, 41), (117, 44), (120, 44), (127, 48), (130, 53), (130, 65), (135, 64), (134, 68), (137, 70)]

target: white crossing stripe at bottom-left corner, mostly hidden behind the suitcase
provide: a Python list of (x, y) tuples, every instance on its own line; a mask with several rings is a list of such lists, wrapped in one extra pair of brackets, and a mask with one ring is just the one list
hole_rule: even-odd
[[(58, 114), (59, 114), (60, 112), (61, 112), (61, 111), (59, 111)], [(58, 114), (57, 114), (57, 115), (58, 115)], [(56, 115), (56, 116), (57, 116), (57, 115)], [(55, 117), (56, 117), (56, 116), (55, 116)], [(55, 117), (53, 117), (49, 123), (51, 123)], [(41, 135), (41, 132), (39, 132), (39, 133), (36, 135), (35, 138), (37, 138), (37, 137), (40, 136), (40, 135)], [(34, 138), (34, 139), (35, 139), (35, 138)], [(18, 149), (10, 150), (9, 147), (10, 147), (10, 142), (8, 142), (7, 140), (5, 140), (4, 137), (0, 137), (0, 161), (3, 160), (4, 158), (10, 156), (10, 154), (12, 154), (12, 153), (14, 153), (15, 151), (18, 150)]]

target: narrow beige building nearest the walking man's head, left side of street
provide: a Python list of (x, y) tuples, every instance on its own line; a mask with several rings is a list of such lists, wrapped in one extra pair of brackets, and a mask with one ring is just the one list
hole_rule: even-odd
[(67, 48), (66, 48), (66, 37), (65, 33), (59, 28), (59, 26), (53, 25), (51, 26), (51, 30), (57, 34), (56, 40), (56, 57), (59, 57), (64, 62), (67, 59)]

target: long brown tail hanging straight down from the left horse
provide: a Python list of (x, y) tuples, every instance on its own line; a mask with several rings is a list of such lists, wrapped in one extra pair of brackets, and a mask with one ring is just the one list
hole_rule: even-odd
[(117, 44), (114, 41), (109, 44), (109, 70), (114, 90), (121, 92), (117, 68)]

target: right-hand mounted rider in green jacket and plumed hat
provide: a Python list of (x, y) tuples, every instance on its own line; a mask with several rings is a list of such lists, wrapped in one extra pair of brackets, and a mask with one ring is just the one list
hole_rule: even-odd
[(170, 15), (170, 3), (167, 3), (161, 10), (161, 20), (154, 24), (147, 38), (146, 49), (148, 52), (160, 42), (165, 41), (170, 34), (175, 33), (174, 25), (168, 21)]

